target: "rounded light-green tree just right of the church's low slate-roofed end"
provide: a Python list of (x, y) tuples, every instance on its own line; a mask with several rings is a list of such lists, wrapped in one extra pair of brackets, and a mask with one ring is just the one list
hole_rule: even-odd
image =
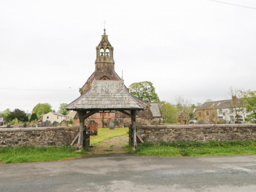
[(166, 101), (161, 101), (161, 108), (163, 112), (163, 122), (164, 123), (177, 123), (176, 121), (176, 109), (171, 103)]

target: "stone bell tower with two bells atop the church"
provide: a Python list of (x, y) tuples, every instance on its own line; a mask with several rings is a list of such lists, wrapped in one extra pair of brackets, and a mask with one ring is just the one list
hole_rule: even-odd
[(104, 29), (104, 33), (101, 35), (101, 42), (96, 47), (95, 70), (102, 70), (103, 68), (114, 70), (113, 50), (114, 48), (108, 40), (108, 35), (106, 35), (106, 29)]

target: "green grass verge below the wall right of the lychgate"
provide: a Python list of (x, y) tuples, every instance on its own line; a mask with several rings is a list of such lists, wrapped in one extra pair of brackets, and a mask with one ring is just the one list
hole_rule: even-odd
[(210, 155), (256, 154), (256, 140), (252, 141), (211, 141), (211, 142), (159, 142), (138, 144), (135, 151), (128, 153), (166, 157), (197, 157)]

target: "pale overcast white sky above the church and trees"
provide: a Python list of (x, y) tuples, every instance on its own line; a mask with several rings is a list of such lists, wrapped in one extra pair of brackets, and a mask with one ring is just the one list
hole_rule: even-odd
[[(219, 0), (255, 7), (255, 0)], [(256, 10), (208, 0), (0, 1), (0, 111), (53, 109), (79, 97), (106, 34), (127, 86), (151, 81), (161, 100), (223, 100), (256, 90)], [(71, 87), (71, 88), (69, 88)], [(32, 91), (8, 89), (68, 91)]]

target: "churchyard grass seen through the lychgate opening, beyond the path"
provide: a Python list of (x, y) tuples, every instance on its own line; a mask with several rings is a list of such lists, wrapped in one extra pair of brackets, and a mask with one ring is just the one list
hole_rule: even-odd
[(128, 134), (129, 128), (98, 128), (98, 135), (90, 136), (90, 145), (97, 145), (97, 143), (103, 142), (117, 136)]

